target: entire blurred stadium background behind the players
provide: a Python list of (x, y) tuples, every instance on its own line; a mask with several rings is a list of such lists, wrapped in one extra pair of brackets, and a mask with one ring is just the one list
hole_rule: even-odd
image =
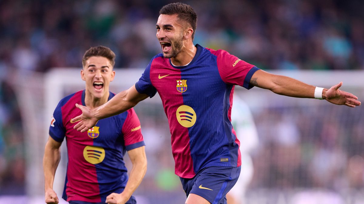
[[(0, 1), (0, 203), (43, 203), (42, 159), (60, 98), (84, 88), (81, 58), (90, 46), (116, 53), (111, 91), (133, 85), (151, 57), (159, 9), (171, 1)], [(361, 0), (185, 1), (198, 15), (195, 43), (225, 49), (268, 72), (364, 98)], [(236, 88), (252, 110), (247, 203), (364, 203), (364, 108)], [(183, 203), (160, 99), (135, 107), (148, 170), (139, 203)], [(242, 116), (243, 117), (243, 116)], [(241, 141), (244, 142), (244, 141)], [(62, 195), (67, 153), (56, 173)], [(130, 165), (130, 163), (128, 164)]]

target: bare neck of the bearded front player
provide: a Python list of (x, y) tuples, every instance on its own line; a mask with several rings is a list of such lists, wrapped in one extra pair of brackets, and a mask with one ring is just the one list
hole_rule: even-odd
[(184, 42), (181, 51), (176, 57), (171, 58), (171, 62), (175, 66), (184, 66), (193, 60), (196, 52), (197, 48), (193, 45), (193, 42)]

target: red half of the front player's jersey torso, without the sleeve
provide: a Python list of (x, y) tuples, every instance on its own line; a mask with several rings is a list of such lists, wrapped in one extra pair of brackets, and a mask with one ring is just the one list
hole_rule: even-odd
[[(166, 65), (169, 66), (166, 67)], [(158, 76), (166, 77), (158, 78)], [(183, 93), (177, 90), (177, 80), (181, 79), (181, 70), (173, 68), (169, 64), (169, 59), (157, 57), (153, 60), (150, 68), (150, 81), (157, 90), (163, 89), (162, 92), (158, 91), (158, 94), (162, 99), (172, 135), (175, 174), (182, 178), (192, 178), (195, 176), (195, 172), (190, 151), (189, 130), (180, 125), (176, 117), (178, 107), (183, 105)]]

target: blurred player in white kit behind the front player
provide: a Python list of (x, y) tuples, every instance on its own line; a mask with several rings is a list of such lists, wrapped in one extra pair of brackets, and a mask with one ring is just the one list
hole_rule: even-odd
[(234, 95), (231, 123), (240, 141), (241, 172), (234, 187), (227, 193), (227, 204), (245, 204), (246, 189), (253, 179), (254, 167), (250, 153), (258, 147), (259, 139), (249, 106)]

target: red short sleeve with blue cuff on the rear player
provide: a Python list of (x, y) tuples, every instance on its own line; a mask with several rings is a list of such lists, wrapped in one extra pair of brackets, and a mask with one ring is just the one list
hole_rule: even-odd
[(128, 115), (122, 127), (122, 133), (124, 135), (124, 142), (126, 150), (132, 150), (141, 146), (145, 146), (141, 125), (138, 115), (134, 109), (127, 111)]

